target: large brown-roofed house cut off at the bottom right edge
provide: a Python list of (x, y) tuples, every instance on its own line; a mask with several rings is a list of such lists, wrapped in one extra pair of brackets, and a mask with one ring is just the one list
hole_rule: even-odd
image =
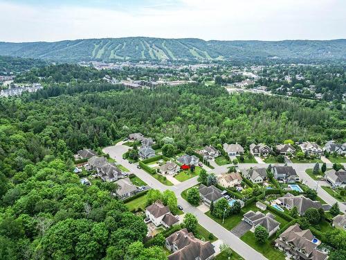
[(275, 246), (291, 259), (325, 260), (327, 254), (317, 249), (310, 229), (302, 230), (298, 224), (291, 225), (275, 240)]

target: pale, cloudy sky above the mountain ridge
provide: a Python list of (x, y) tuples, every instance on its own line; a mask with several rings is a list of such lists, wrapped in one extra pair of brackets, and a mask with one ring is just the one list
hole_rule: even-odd
[(346, 38), (346, 0), (0, 0), (0, 42)]

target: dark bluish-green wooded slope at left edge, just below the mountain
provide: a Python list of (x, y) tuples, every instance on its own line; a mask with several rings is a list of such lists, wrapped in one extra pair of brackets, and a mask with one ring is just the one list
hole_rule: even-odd
[(10, 76), (11, 73), (19, 73), (32, 69), (33, 67), (43, 67), (47, 64), (44, 60), (0, 56), (0, 76)]

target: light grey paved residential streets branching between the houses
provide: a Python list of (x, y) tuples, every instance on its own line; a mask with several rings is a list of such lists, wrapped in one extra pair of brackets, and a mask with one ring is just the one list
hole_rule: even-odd
[[(224, 241), (224, 243), (227, 243), (230, 245), (230, 247), (235, 250), (238, 254), (240, 254), (244, 259), (266, 259), (262, 254), (251, 248), (249, 245), (244, 243), (242, 240), (240, 240), (235, 234), (228, 231), (218, 223), (216, 223), (214, 220), (206, 216), (202, 211), (197, 209), (196, 207), (193, 207), (190, 205), (187, 201), (185, 201), (183, 198), (181, 198), (181, 192), (185, 189), (188, 189), (196, 184), (198, 184), (197, 177), (193, 177), (189, 180), (186, 180), (185, 182), (181, 182), (180, 184), (176, 184), (174, 186), (166, 186), (165, 184), (162, 184), (158, 180), (156, 180), (152, 175), (149, 175), (143, 169), (138, 169), (138, 164), (129, 164), (129, 162), (126, 159), (122, 159), (122, 155), (129, 150), (128, 146), (123, 146), (123, 142), (120, 142), (116, 144), (116, 146), (109, 146), (103, 149), (104, 153), (108, 153), (109, 156), (113, 159), (116, 159), (116, 162), (119, 164), (122, 164), (122, 166), (125, 166), (126, 168), (131, 171), (131, 173), (134, 173), (140, 179), (142, 179), (144, 182), (146, 182), (150, 187), (154, 189), (158, 189), (160, 191), (165, 191), (166, 189), (170, 189), (174, 191), (176, 194), (176, 197), (178, 199), (179, 205), (183, 206), (183, 209), (185, 212), (190, 212), (197, 216), (199, 220), (199, 224), (201, 224), (203, 227), (208, 229), (210, 232), (215, 234), (219, 239)], [(228, 167), (231, 164), (224, 165), (224, 166), (217, 166), (215, 169), (208, 169), (209, 172), (215, 173), (216, 175), (219, 175), (221, 173), (225, 173), (228, 171)], [(283, 164), (282, 164), (283, 165)], [(311, 177), (305, 173), (305, 170), (307, 168), (313, 168), (314, 164), (290, 164), (295, 168), (295, 171), (297, 171), (297, 174), (299, 175), (302, 182), (307, 184), (309, 187), (316, 189), (316, 185), (318, 183), (311, 179)], [(239, 164), (239, 170), (242, 171), (244, 169), (255, 167), (255, 166), (261, 166), (261, 167), (267, 167), (268, 164)], [(327, 165), (328, 167), (331, 167), (331, 165)], [(324, 189), (322, 189), (320, 186), (317, 187), (318, 196), (322, 198), (322, 200), (325, 200), (328, 204), (332, 205), (336, 202), (336, 199), (329, 195)], [(346, 212), (346, 205), (339, 203), (340, 210), (343, 212)]]

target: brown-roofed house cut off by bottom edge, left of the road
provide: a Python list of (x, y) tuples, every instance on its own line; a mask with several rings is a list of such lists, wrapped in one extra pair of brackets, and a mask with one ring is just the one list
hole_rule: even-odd
[(168, 256), (169, 260), (211, 260), (215, 256), (212, 243), (196, 239), (186, 228), (168, 236), (165, 245), (172, 252)]

